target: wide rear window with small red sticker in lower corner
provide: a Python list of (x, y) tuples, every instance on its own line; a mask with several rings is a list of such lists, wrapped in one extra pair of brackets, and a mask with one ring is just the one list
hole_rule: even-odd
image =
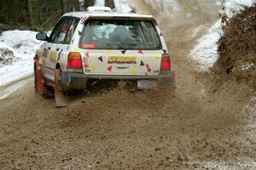
[(161, 49), (155, 26), (145, 20), (88, 20), (79, 42), (80, 48)]

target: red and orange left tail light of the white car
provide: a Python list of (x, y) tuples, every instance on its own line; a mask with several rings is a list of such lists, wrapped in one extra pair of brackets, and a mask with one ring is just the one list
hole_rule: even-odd
[(71, 52), (68, 54), (67, 69), (82, 69), (81, 55)]

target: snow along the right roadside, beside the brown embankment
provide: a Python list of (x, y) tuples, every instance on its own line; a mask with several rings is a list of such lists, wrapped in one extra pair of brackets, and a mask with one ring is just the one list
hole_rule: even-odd
[[(233, 14), (240, 11), (243, 6), (252, 6), (255, 2), (256, 0), (227, 0), (224, 3), (225, 13), (231, 17)], [(195, 59), (200, 65), (199, 71), (209, 71), (218, 59), (217, 42), (222, 33), (221, 21), (218, 20), (218, 22), (208, 30), (207, 35), (197, 40), (197, 44), (190, 51), (191, 58)]]

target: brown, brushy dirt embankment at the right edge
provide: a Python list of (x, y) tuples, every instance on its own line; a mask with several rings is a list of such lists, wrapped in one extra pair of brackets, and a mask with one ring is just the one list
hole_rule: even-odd
[(256, 7), (223, 20), (224, 36), (218, 42), (219, 58), (212, 70), (224, 74), (224, 79), (252, 82), (256, 88)]

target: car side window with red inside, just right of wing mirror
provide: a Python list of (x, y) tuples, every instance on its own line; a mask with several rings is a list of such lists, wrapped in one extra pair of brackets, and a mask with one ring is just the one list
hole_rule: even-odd
[(55, 26), (55, 29), (52, 31), (49, 42), (62, 43), (65, 40), (67, 35), (68, 26), (70, 23), (70, 17), (63, 17)]

